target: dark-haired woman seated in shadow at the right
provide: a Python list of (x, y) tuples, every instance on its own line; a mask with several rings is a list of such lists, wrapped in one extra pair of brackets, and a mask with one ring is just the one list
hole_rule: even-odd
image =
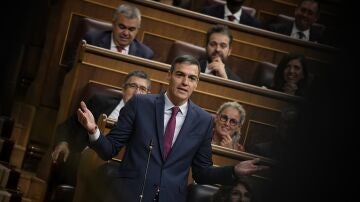
[(273, 81), (273, 90), (305, 97), (308, 91), (309, 74), (304, 55), (289, 53), (278, 64)]

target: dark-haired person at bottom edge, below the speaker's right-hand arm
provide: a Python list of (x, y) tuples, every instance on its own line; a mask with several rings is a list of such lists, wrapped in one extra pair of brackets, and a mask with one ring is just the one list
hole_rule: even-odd
[(238, 180), (235, 185), (223, 185), (214, 194), (213, 202), (250, 202), (252, 190), (245, 181)]

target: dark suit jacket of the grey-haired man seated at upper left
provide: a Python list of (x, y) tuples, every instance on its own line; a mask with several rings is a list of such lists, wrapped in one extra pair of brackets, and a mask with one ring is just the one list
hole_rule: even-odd
[[(111, 31), (91, 31), (85, 34), (84, 40), (91, 45), (110, 49)], [(134, 39), (129, 47), (129, 55), (152, 59), (154, 57), (154, 52), (137, 39)]]

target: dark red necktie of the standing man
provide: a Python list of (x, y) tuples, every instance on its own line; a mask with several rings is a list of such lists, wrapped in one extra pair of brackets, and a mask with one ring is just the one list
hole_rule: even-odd
[(176, 114), (179, 112), (179, 107), (173, 107), (171, 117), (168, 121), (168, 124), (165, 129), (165, 137), (164, 137), (164, 159), (167, 158), (172, 145), (172, 140), (174, 138), (174, 132), (176, 127)]

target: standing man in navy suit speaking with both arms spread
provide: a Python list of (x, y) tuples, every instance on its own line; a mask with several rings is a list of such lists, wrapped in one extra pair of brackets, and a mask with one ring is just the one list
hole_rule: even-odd
[(101, 201), (185, 202), (190, 167), (200, 184), (231, 184), (238, 177), (267, 169), (259, 160), (234, 166), (212, 163), (212, 116), (190, 96), (199, 82), (199, 62), (177, 57), (163, 94), (136, 95), (121, 111), (116, 127), (100, 134), (84, 102), (78, 119), (88, 131), (90, 147), (109, 160), (126, 146), (125, 156)]

